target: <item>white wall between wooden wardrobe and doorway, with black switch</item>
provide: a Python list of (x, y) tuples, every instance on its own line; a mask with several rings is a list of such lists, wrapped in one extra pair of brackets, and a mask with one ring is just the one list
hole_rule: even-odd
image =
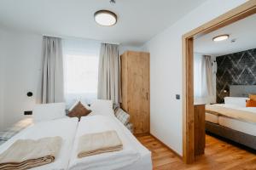
[[(150, 52), (150, 131), (182, 155), (182, 35), (246, 0), (208, 0), (144, 45)], [(166, 16), (167, 17), (167, 16)]]

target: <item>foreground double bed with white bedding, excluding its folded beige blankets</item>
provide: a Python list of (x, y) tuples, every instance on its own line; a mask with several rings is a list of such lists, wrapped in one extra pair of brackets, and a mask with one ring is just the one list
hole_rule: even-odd
[[(31, 126), (26, 127), (0, 145), (0, 154), (7, 150), (17, 139), (40, 139), (60, 136), (63, 141), (61, 151), (55, 161), (33, 169), (152, 169), (151, 152), (140, 144), (131, 132), (114, 116), (112, 102), (96, 100), (90, 106), (92, 110), (90, 116), (82, 117), (80, 122), (78, 118), (67, 117), (65, 113), (63, 115), (62, 106), (62, 104), (59, 105), (58, 109), (55, 106), (45, 109), (48, 105), (47, 107), (46, 105), (40, 105), (38, 111), (33, 111), (33, 113), (39, 115), (39, 118), (34, 118), (34, 123)], [(55, 110), (53, 111), (55, 114), (50, 113), (49, 110)], [(65, 112), (65, 106), (63, 111)], [(51, 116), (50, 120), (47, 118), (49, 116)], [(114, 130), (118, 133), (123, 144), (123, 150), (78, 158), (79, 137), (84, 134), (104, 132), (106, 130)]]

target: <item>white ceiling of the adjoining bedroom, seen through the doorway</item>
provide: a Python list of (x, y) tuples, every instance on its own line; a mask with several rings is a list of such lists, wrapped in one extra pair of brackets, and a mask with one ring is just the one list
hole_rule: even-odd
[[(223, 42), (212, 41), (212, 37), (222, 34), (229, 34), (230, 38)], [(231, 42), (232, 39), (236, 39), (236, 42)], [(195, 40), (194, 45), (196, 53), (215, 56), (232, 54), (252, 48), (256, 48), (256, 14), (199, 37)]]

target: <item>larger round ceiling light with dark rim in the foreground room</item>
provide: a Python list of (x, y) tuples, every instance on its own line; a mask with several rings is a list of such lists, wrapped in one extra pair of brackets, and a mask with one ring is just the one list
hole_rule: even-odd
[(99, 10), (94, 14), (94, 19), (101, 26), (113, 26), (117, 22), (117, 15), (108, 10)]

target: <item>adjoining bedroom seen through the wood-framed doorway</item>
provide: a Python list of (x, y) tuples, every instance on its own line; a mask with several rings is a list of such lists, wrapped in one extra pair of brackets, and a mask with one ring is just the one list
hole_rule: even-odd
[(195, 139), (201, 145), (195, 147), (198, 154), (211, 138), (256, 149), (255, 28), (253, 14), (195, 39), (194, 102), (195, 117), (200, 117), (195, 123), (204, 124), (201, 131), (207, 132), (207, 141)]

